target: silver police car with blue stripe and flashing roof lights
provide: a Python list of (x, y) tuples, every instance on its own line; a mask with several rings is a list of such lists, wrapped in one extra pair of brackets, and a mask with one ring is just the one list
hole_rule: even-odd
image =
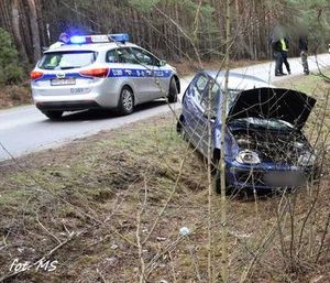
[(109, 108), (130, 115), (157, 98), (177, 101), (176, 69), (129, 42), (128, 34), (72, 36), (31, 72), (35, 106), (50, 119), (64, 111)]

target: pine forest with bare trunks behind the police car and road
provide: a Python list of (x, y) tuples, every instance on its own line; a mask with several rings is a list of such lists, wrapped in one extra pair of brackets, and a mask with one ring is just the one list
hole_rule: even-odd
[[(328, 0), (233, 0), (233, 59), (271, 58), (270, 37), (282, 26), (297, 56), (297, 33), (308, 32), (310, 52), (330, 42)], [(0, 28), (15, 43), (23, 66), (62, 32), (129, 33), (132, 42), (167, 59), (221, 59), (226, 53), (224, 0), (2, 0)], [(26, 67), (25, 67), (26, 68)]]

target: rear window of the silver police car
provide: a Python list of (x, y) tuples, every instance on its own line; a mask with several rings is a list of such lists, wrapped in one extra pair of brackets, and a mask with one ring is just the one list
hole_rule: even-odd
[(37, 66), (42, 69), (80, 68), (92, 64), (96, 57), (94, 51), (50, 52), (44, 54)]

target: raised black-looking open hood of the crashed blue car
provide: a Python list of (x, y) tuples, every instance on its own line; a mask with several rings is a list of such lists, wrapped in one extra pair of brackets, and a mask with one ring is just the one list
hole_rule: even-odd
[(227, 121), (256, 117), (280, 119), (301, 129), (316, 104), (307, 95), (285, 88), (254, 88), (240, 92), (230, 106)]

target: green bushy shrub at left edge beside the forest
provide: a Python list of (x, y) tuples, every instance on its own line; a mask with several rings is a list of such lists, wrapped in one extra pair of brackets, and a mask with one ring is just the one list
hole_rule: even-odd
[(0, 28), (0, 85), (11, 85), (23, 79), (19, 53), (9, 32)]

